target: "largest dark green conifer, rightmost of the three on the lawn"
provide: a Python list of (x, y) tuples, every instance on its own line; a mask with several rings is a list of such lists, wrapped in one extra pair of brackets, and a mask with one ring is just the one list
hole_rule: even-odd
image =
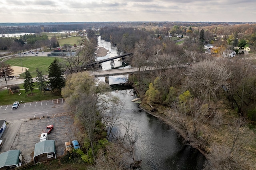
[(55, 58), (48, 68), (48, 80), (52, 91), (57, 89), (60, 91), (65, 86), (64, 70), (60, 64), (60, 60)]

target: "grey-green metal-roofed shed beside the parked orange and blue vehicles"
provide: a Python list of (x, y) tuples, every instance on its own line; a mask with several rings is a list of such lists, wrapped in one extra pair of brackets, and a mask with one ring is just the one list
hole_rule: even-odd
[(54, 153), (54, 157), (56, 159), (56, 147), (55, 147), (55, 140), (44, 140), (42, 142), (38, 142), (35, 145), (34, 150), (34, 163), (36, 162), (36, 156), (39, 156), (41, 154), (45, 153)]

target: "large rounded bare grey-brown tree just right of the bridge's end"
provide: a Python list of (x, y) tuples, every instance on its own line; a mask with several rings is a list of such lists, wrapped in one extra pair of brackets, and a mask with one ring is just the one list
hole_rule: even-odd
[(186, 85), (196, 97), (208, 99), (210, 102), (216, 98), (218, 90), (223, 86), (228, 87), (227, 80), (230, 77), (227, 62), (205, 60), (188, 68)]

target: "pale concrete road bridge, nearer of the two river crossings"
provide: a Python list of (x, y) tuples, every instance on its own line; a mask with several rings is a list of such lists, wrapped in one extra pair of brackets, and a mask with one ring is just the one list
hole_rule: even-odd
[[(173, 64), (170, 65), (169, 68), (177, 68), (177, 67), (188, 67), (188, 63), (180, 63), (180, 64)], [(114, 76), (114, 75), (126, 75), (126, 74), (134, 74), (134, 73), (140, 73), (140, 72), (150, 72), (154, 71), (156, 68), (154, 66), (148, 66), (148, 67), (135, 67), (135, 68), (129, 68), (129, 69), (110, 69), (110, 70), (103, 70), (103, 71), (90, 71), (90, 75), (94, 77), (105, 77), (106, 83), (108, 83), (108, 77)]]

